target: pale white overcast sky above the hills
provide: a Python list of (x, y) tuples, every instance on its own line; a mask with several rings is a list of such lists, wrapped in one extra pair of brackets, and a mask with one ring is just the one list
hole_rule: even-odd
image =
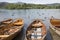
[(60, 3), (60, 0), (0, 0), (0, 2), (26, 2), (26, 3), (35, 3), (35, 4), (51, 4), (51, 3)]

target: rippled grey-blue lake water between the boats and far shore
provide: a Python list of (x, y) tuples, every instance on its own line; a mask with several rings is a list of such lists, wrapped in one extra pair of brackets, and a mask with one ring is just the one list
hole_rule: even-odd
[[(22, 31), (25, 32), (28, 25), (34, 20), (34, 19), (41, 19), (47, 30), (49, 29), (49, 19), (51, 17), (60, 19), (60, 9), (21, 9), (21, 10), (6, 10), (6, 9), (0, 9), (0, 21), (8, 19), (8, 18), (22, 18), (24, 19), (24, 28)], [(24, 32), (23, 35), (25, 35)], [(21, 35), (21, 34), (20, 34)], [(23, 36), (21, 35), (21, 36)], [(24, 36), (23, 36), (24, 37)], [(21, 37), (21, 40), (23, 40), (23, 37)], [(49, 38), (48, 38), (49, 37)], [(20, 38), (20, 37), (18, 37)], [(49, 32), (47, 32), (47, 40), (51, 40), (51, 37), (49, 35)]]

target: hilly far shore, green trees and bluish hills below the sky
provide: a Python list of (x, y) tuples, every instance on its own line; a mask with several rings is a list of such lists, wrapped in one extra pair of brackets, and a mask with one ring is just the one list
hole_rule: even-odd
[(5, 9), (60, 9), (60, 3), (53, 4), (32, 4), (32, 3), (8, 3), (0, 2), (0, 8)]

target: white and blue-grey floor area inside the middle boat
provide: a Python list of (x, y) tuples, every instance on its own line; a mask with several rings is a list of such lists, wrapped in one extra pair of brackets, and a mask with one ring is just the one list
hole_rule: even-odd
[(32, 28), (32, 33), (31, 33), (31, 40), (37, 40), (42, 38), (42, 34), (41, 34), (41, 28)]

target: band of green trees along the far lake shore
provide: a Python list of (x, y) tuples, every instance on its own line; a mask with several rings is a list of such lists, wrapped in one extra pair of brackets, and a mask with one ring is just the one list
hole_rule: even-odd
[(13, 4), (10, 3), (0, 8), (5, 9), (60, 9), (60, 5), (58, 6), (47, 6), (47, 5), (40, 5), (40, 4)]

